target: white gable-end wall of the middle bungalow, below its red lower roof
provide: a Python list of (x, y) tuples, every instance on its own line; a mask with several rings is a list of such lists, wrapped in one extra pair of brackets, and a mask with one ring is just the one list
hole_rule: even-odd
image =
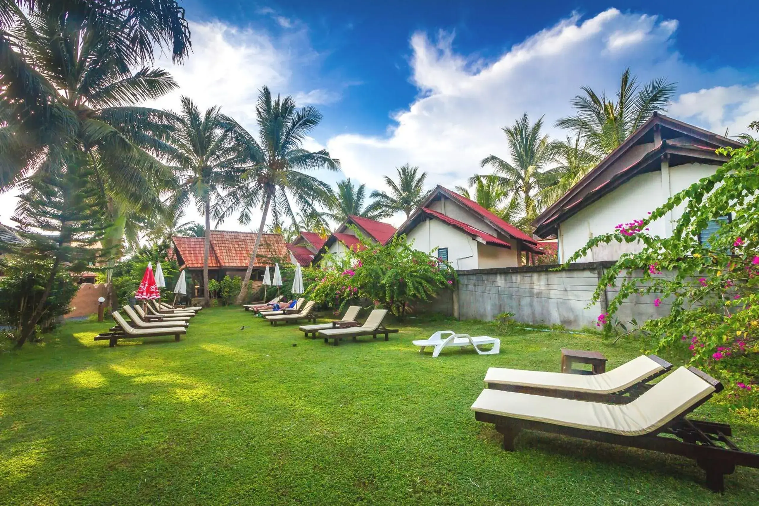
[[(448, 261), (454, 269), (479, 269), (477, 241), (464, 232), (436, 219), (421, 222), (406, 235), (414, 250), (430, 253), (438, 247), (448, 248)], [(435, 254), (435, 252), (433, 252)]]

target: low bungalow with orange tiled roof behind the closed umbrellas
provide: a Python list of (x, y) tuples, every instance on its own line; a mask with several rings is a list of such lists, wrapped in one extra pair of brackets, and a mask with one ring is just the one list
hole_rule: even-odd
[[(212, 230), (208, 257), (209, 279), (221, 281), (225, 275), (244, 276), (247, 264), (250, 262), (250, 253), (253, 253), (256, 235), (253, 232)], [(172, 237), (172, 243), (179, 267), (187, 269), (187, 273), (191, 275), (198, 288), (198, 293), (202, 293), (203, 237), (175, 235)], [(257, 287), (256, 281), (260, 284), (266, 266), (273, 266), (275, 262), (286, 262), (289, 256), (282, 234), (263, 234), (253, 273), (250, 276), (253, 286)]]

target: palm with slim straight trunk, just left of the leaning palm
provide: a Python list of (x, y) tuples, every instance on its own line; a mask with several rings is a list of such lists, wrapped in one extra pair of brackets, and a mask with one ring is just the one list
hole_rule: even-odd
[(208, 259), (211, 246), (211, 207), (220, 203), (224, 190), (240, 181), (240, 146), (236, 143), (231, 120), (218, 107), (205, 114), (186, 96), (181, 97), (181, 112), (175, 117), (171, 136), (174, 151), (170, 156), (180, 174), (179, 186), (172, 196), (172, 208), (182, 209), (192, 196), (198, 212), (206, 218), (203, 241), (203, 303), (209, 306)]

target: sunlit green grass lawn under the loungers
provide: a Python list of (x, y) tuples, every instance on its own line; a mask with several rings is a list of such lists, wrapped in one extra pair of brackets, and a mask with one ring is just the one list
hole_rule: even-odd
[[(244, 328), (241, 328), (244, 325)], [(69, 323), (0, 354), (0, 504), (757, 504), (759, 473), (704, 488), (691, 460), (524, 432), (499, 448), (469, 407), (488, 366), (556, 370), (559, 348), (635, 344), (531, 332), (501, 354), (411, 345), (490, 324), (407, 320), (389, 341), (339, 347), (238, 308), (204, 310), (173, 338), (93, 341)], [(295, 346), (297, 345), (297, 346)], [(759, 426), (716, 404), (759, 451)]]

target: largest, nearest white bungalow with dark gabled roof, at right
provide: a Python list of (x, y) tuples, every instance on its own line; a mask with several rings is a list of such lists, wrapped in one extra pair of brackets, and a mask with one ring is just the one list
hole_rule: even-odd
[[(645, 218), (670, 196), (714, 174), (727, 161), (716, 154), (716, 149), (739, 146), (735, 140), (654, 113), (535, 218), (535, 234), (556, 235), (559, 262), (565, 262), (588, 239), (613, 232), (616, 225)], [(683, 209), (677, 206), (665, 218), (651, 223), (650, 233), (669, 237)], [(716, 228), (716, 222), (710, 223), (701, 233), (701, 241), (708, 240)], [(640, 241), (603, 244), (579, 261), (616, 260), (622, 253), (637, 253), (642, 247)]]

